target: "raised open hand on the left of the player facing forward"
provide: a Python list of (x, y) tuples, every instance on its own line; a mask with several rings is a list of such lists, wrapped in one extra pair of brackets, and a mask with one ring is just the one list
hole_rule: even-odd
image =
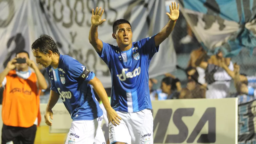
[(99, 26), (106, 21), (106, 19), (101, 20), (103, 13), (104, 13), (104, 9), (102, 9), (101, 11), (101, 7), (99, 8), (99, 10), (98, 10), (98, 7), (96, 7), (95, 13), (94, 13), (94, 9), (92, 9), (91, 23), (93, 26)]

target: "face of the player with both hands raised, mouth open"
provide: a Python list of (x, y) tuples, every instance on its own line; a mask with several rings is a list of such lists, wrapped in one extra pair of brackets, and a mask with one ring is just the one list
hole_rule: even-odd
[(128, 46), (129, 44), (131, 44), (131, 26), (128, 23), (120, 24), (117, 28), (115, 37), (118, 45)]

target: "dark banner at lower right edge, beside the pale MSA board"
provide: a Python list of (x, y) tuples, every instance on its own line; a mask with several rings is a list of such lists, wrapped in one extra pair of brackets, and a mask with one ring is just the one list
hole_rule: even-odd
[(238, 143), (256, 143), (256, 100), (238, 106)]

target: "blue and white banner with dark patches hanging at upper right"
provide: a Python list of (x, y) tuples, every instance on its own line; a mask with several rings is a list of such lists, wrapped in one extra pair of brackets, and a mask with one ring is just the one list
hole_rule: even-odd
[(221, 50), (236, 56), (245, 47), (251, 54), (256, 45), (256, 1), (177, 0), (193, 33), (208, 54)]

